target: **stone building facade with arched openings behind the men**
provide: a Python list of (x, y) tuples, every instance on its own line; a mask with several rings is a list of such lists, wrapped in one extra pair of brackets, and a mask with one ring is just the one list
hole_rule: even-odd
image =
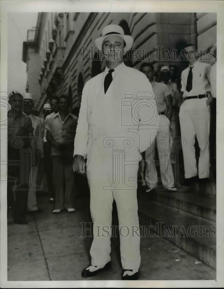
[[(39, 112), (51, 95), (67, 94), (72, 99), (73, 108), (80, 106), (85, 82), (105, 66), (102, 61), (91, 60), (97, 56), (91, 46), (102, 28), (112, 23), (121, 25), (124, 32), (134, 38), (133, 49), (138, 51), (160, 46), (172, 54), (173, 49), (180, 52), (187, 43), (210, 49), (216, 42), (215, 13), (38, 13), (35, 37), (23, 45), (23, 61), (28, 67), (29, 92), (33, 78), (39, 84), (36, 101)], [(161, 55), (154, 54), (161, 59), (151, 61), (157, 71), (162, 65), (172, 63), (181, 73), (187, 65), (183, 61), (166, 60), (163, 50)], [(136, 58), (126, 62), (136, 69), (141, 63)]]

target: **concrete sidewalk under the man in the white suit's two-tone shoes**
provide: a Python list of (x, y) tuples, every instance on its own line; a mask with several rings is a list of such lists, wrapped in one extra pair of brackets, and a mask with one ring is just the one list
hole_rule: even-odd
[[(9, 214), (8, 281), (86, 280), (81, 271), (90, 263), (92, 237), (81, 237), (80, 223), (91, 222), (89, 197), (76, 198), (75, 213), (58, 215), (52, 214), (48, 199), (39, 197), (39, 208), (44, 212), (28, 215), (28, 225), (14, 224)], [(141, 257), (141, 280), (216, 279), (216, 271), (203, 263), (195, 264), (194, 257), (161, 237), (142, 237)], [(111, 238), (111, 266), (88, 280), (121, 280), (119, 237)]]

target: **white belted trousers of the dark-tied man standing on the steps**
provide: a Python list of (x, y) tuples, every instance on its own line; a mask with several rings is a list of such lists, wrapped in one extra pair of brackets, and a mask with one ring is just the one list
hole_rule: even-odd
[[(181, 137), (186, 139), (183, 146), (183, 161), (185, 178), (209, 177), (209, 129), (210, 129), (210, 106), (206, 105), (207, 98), (187, 99), (180, 108), (179, 118)], [(198, 164), (195, 158), (195, 135), (200, 148)]]

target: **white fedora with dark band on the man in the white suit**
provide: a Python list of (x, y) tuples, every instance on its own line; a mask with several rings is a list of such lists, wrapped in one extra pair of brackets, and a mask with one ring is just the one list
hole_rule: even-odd
[(120, 36), (124, 39), (127, 50), (131, 49), (134, 42), (133, 38), (130, 35), (124, 35), (124, 30), (122, 29), (122, 27), (115, 24), (110, 24), (104, 27), (104, 29), (102, 30), (102, 36), (95, 40), (95, 45), (98, 49), (102, 49), (103, 41), (108, 35)]

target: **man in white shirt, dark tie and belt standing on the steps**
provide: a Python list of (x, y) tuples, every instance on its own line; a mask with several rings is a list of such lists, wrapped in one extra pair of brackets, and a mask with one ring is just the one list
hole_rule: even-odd
[[(211, 65), (199, 62), (198, 52), (190, 44), (184, 49), (189, 66), (181, 74), (181, 91), (184, 102), (180, 107), (179, 119), (181, 137), (186, 139), (183, 146), (185, 180), (183, 185), (194, 181), (201, 183), (209, 177), (209, 129), (210, 129), (210, 70)], [(195, 136), (197, 137), (200, 157), (197, 171), (195, 158)], [(197, 177), (198, 176), (198, 177)]]

